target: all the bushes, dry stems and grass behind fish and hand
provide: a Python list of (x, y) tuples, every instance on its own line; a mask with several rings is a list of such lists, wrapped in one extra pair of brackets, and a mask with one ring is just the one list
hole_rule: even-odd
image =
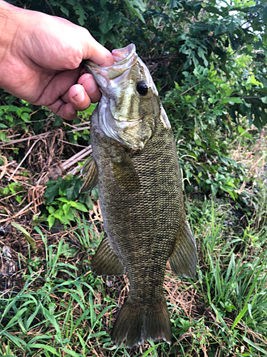
[(172, 346), (113, 346), (127, 276), (91, 273), (103, 220), (97, 188), (78, 193), (94, 106), (70, 124), (0, 89), (0, 354), (267, 356), (266, 1), (11, 2), (110, 50), (135, 43), (174, 129), (199, 270), (167, 266)]

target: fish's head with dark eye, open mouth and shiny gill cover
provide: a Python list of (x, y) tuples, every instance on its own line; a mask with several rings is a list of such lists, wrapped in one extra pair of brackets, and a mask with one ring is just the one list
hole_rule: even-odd
[(85, 69), (102, 92), (98, 126), (105, 136), (122, 146), (143, 149), (161, 116), (157, 88), (134, 44), (113, 50), (112, 56), (115, 64), (109, 67), (85, 61)]

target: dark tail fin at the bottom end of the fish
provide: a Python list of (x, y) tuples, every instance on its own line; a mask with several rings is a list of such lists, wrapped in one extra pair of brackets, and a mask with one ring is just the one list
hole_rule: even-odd
[(142, 345), (147, 340), (155, 341), (161, 338), (171, 343), (172, 328), (165, 299), (162, 298), (156, 305), (140, 306), (130, 302), (128, 298), (111, 333), (111, 339), (116, 346), (120, 346), (125, 338), (128, 348)]

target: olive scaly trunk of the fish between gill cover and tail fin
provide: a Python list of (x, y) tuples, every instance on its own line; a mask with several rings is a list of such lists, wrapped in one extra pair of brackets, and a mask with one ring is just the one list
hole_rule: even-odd
[[(92, 123), (91, 143), (105, 231), (128, 272), (132, 298), (153, 303), (162, 298), (167, 259), (183, 215), (172, 129), (159, 124), (144, 149), (127, 151), (103, 139)], [(127, 176), (123, 184), (117, 179), (116, 164), (110, 156), (114, 147), (118, 156), (121, 151), (132, 161), (139, 178), (136, 185)]]

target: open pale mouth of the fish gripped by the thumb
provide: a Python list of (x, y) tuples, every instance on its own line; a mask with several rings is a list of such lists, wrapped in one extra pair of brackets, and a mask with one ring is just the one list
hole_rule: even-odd
[(115, 64), (112, 64), (112, 66), (100, 67), (91, 61), (84, 61), (84, 64), (86, 68), (88, 68), (87, 66), (90, 67), (90, 71), (95, 70), (102, 76), (108, 77), (108, 79), (115, 79), (136, 64), (137, 54), (135, 51), (135, 44), (129, 44), (122, 49), (113, 49), (111, 54)]

